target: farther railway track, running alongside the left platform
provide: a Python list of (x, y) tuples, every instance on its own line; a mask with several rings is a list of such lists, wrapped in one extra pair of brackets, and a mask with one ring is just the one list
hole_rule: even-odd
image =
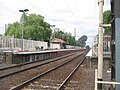
[(38, 60), (38, 61), (33, 61), (33, 62), (27, 62), (27, 63), (22, 63), (22, 64), (18, 64), (18, 65), (14, 65), (14, 66), (9, 66), (9, 67), (5, 67), (5, 68), (0, 68), (0, 79), (13, 75), (15, 73), (19, 73), (21, 71), (27, 70), (27, 69), (31, 69), (31, 68), (35, 68), (44, 64), (48, 64), (50, 62), (54, 62), (54, 61), (58, 61), (62, 58), (65, 57), (69, 57), (72, 55), (75, 55), (76, 53), (71, 53), (62, 57), (58, 57), (58, 58), (54, 58), (54, 59), (47, 59), (47, 60)]

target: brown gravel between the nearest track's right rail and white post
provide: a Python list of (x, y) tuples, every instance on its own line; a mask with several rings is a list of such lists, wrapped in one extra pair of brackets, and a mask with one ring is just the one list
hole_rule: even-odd
[[(63, 90), (94, 90), (94, 69), (87, 66), (87, 60), (80, 65), (70, 79), (64, 84)], [(103, 89), (107, 90), (107, 89)]]

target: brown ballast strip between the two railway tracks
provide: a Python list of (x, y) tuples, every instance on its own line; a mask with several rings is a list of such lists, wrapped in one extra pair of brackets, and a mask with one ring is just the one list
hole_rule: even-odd
[[(69, 54), (68, 56), (66, 56), (67, 57), (66, 59), (64, 59), (65, 56), (63, 56), (59, 59), (58, 58), (51, 59), (50, 61), (42, 62), (41, 64), (39, 63), (39, 65), (30, 66), (29, 68), (28, 68), (28, 66), (24, 67), (24, 65), (22, 67), (20, 66), (20, 68), (22, 68), (22, 70), (20, 69), (18, 71), (13, 71), (12, 73), (7, 73), (7, 74), (4, 74), (1, 76), (0, 90), (9, 90), (10, 88), (12, 88), (14, 86), (19, 85), (20, 83), (23, 83), (26, 80), (35, 77), (39, 73), (42, 73), (45, 70), (48, 70), (48, 69), (56, 66), (59, 63), (68, 61), (70, 58), (74, 58), (75, 56), (77, 57), (78, 55), (75, 53), (73, 55)], [(11, 69), (12, 69), (12, 67), (11, 67)]]

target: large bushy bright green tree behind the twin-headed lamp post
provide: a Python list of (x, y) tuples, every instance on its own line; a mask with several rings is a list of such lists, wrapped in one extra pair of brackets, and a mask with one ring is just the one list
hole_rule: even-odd
[(22, 14), (20, 22), (15, 22), (8, 25), (6, 36), (12, 36), (16, 38), (22, 37), (22, 17), (24, 15), (24, 39), (49, 41), (52, 34), (50, 24), (44, 21), (44, 17), (36, 14)]

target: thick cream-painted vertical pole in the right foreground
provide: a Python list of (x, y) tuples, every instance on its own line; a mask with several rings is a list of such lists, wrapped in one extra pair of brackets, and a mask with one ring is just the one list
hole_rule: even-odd
[[(103, 4), (104, 0), (98, 0), (99, 5), (99, 43), (98, 43), (98, 81), (102, 81), (103, 75)], [(102, 84), (98, 83), (98, 90), (102, 90)]]

